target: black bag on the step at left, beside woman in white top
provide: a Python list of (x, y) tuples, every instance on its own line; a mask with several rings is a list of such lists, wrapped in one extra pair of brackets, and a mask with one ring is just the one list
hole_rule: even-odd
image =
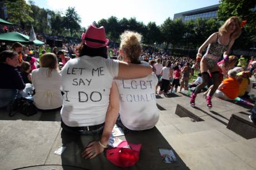
[(9, 116), (14, 116), (17, 112), (25, 116), (32, 116), (37, 113), (37, 108), (32, 100), (24, 97), (14, 99), (8, 106)]

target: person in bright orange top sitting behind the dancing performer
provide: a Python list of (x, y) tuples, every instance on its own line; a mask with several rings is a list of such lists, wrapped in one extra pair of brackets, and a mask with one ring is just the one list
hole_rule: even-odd
[[(237, 80), (237, 71), (229, 70), (228, 79), (222, 81), (218, 89), (215, 91), (214, 96), (223, 100), (234, 100), (239, 95), (240, 82)], [(204, 96), (207, 96), (210, 89), (204, 92)]]

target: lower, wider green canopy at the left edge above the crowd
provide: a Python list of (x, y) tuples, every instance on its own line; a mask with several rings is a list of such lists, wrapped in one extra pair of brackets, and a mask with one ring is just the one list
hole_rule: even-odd
[(11, 32), (11, 33), (2, 33), (0, 34), (0, 42), (7, 42), (7, 43), (15, 43), (19, 42), (22, 44), (35, 44), (35, 45), (43, 45), (44, 42), (40, 40), (33, 40), (33, 42), (29, 42), (29, 37), (27, 35), (18, 33), (18, 32)]

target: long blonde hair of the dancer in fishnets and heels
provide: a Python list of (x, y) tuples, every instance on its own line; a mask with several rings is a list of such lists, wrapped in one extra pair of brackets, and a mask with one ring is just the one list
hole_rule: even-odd
[(230, 17), (225, 21), (225, 23), (219, 28), (220, 35), (227, 34), (229, 25), (234, 22), (237, 26), (234, 30), (234, 32), (231, 34), (231, 37), (234, 39), (237, 39), (241, 34), (241, 23), (242, 19), (239, 17)]

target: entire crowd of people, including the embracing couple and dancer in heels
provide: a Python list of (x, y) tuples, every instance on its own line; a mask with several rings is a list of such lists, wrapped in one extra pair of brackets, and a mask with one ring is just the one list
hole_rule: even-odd
[[(96, 141), (88, 141), (82, 152), (82, 157), (94, 158), (107, 147), (115, 124), (126, 133), (156, 125), (156, 95), (194, 88), (190, 105), (195, 106), (196, 94), (204, 91), (208, 107), (213, 106), (213, 96), (224, 100), (248, 97), (256, 57), (247, 60), (228, 55), (239, 35), (240, 19), (229, 18), (199, 48), (195, 60), (164, 51), (142, 52), (141, 34), (131, 31), (120, 35), (119, 49), (110, 48), (105, 28), (95, 25), (83, 33), (80, 45), (66, 44), (61, 49), (3, 45), (0, 107), (33, 94), (38, 110), (61, 110), (65, 133), (95, 136)], [(202, 56), (205, 47), (208, 49)], [(198, 78), (189, 85), (195, 74)], [(255, 113), (250, 119), (255, 121)]]

